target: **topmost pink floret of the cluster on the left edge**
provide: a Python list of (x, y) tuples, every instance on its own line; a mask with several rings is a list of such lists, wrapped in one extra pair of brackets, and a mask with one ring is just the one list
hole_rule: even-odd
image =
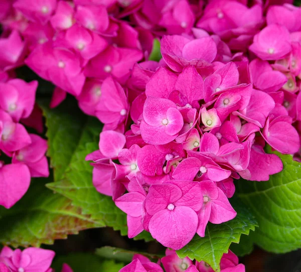
[(22, 79), (0, 83), (0, 107), (16, 122), (29, 117), (34, 108), (37, 87), (37, 81), (27, 83)]

